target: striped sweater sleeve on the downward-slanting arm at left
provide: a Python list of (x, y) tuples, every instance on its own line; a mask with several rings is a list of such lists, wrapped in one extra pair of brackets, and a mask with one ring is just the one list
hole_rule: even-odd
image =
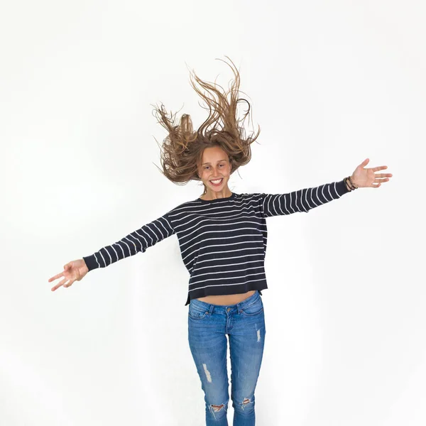
[(102, 247), (90, 256), (83, 256), (89, 271), (97, 268), (106, 268), (121, 259), (134, 256), (136, 253), (144, 253), (148, 247), (154, 246), (159, 241), (175, 234), (169, 213), (143, 225), (136, 231), (124, 236), (111, 246)]

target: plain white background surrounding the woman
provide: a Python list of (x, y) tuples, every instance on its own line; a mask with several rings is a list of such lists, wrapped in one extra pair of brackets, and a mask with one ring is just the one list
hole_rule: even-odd
[(261, 126), (231, 191), (365, 158), (393, 173), (268, 219), (256, 425), (425, 425), (424, 21), (420, 1), (4, 2), (1, 425), (204, 425), (176, 236), (67, 289), (48, 278), (202, 195), (155, 167), (152, 105), (200, 126), (190, 70), (227, 87), (225, 55)]

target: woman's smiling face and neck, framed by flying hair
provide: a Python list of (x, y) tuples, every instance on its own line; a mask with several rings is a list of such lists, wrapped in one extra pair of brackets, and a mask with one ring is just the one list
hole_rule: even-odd
[[(219, 146), (204, 149), (198, 175), (207, 187), (207, 194), (205, 195), (207, 200), (231, 195), (228, 187), (229, 177), (231, 176), (231, 162), (228, 154)], [(215, 185), (212, 180), (220, 180), (220, 182)]]

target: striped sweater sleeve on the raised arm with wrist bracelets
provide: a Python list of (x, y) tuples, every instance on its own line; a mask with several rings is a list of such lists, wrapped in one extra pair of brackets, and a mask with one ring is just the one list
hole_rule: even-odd
[(261, 211), (265, 217), (297, 212), (307, 213), (322, 204), (337, 200), (347, 192), (344, 180), (325, 183), (319, 187), (304, 188), (286, 194), (261, 194)]

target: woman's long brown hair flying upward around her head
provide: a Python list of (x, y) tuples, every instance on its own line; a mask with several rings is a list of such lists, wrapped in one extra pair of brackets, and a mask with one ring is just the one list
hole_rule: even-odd
[[(231, 61), (228, 56), (226, 58)], [(229, 65), (226, 61), (223, 62)], [(231, 64), (234, 65), (234, 62), (231, 61)], [(190, 75), (191, 86), (207, 103), (207, 108), (204, 109), (209, 110), (209, 116), (197, 131), (193, 129), (190, 115), (182, 114), (180, 124), (175, 125), (176, 114), (170, 112), (169, 118), (163, 104), (154, 108), (158, 123), (168, 131), (168, 136), (163, 140), (163, 144), (159, 145), (163, 170), (156, 167), (166, 178), (178, 185), (185, 185), (190, 180), (201, 180), (197, 171), (205, 148), (212, 146), (222, 148), (229, 156), (231, 174), (251, 160), (250, 145), (258, 138), (261, 128), (259, 126), (255, 136), (245, 136), (242, 124), (249, 114), (250, 103), (246, 99), (239, 98), (240, 75), (235, 65), (234, 67), (229, 65), (229, 67), (234, 72), (235, 81), (228, 92), (224, 92), (224, 89), (216, 82), (209, 84), (200, 80), (195, 72), (193, 72), (193, 76)], [(195, 82), (192, 79), (195, 79)], [(207, 93), (198, 89), (196, 82)], [(222, 89), (222, 92), (217, 87)], [(229, 101), (228, 94), (230, 94)], [(249, 105), (249, 109), (241, 120), (236, 116), (236, 107), (240, 101), (245, 101)], [(204, 183), (203, 186), (204, 195), (207, 188)]]

